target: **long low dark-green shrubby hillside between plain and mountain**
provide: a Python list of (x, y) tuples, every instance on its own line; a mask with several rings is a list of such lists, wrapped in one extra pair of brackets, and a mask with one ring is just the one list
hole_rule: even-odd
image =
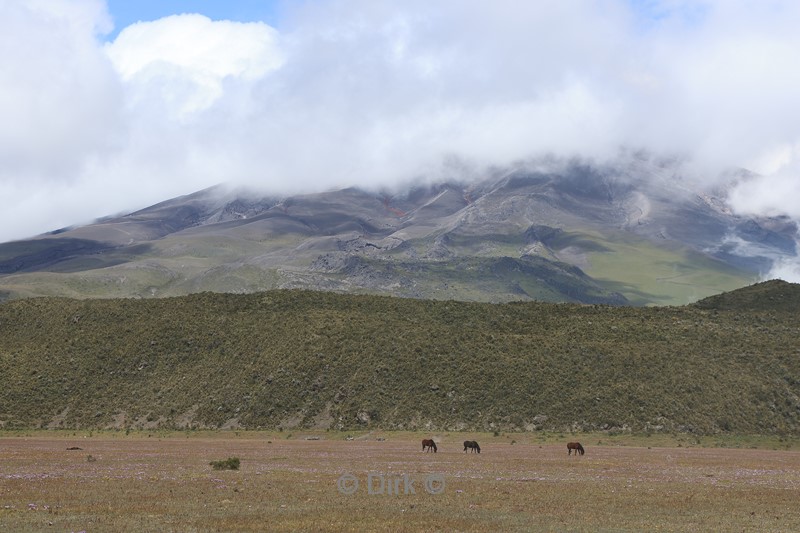
[(798, 301), (784, 282), (660, 308), (306, 291), (9, 301), (0, 426), (800, 434)]

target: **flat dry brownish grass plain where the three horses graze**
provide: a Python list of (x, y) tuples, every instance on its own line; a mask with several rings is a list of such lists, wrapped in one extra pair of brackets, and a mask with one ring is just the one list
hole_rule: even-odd
[[(0, 529), (800, 531), (795, 446), (619, 446), (583, 435), (586, 455), (568, 457), (575, 436), (452, 433), (434, 435), (433, 454), (421, 451), (428, 435), (380, 435), (5, 436)], [(462, 452), (467, 438), (481, 454)], [(233, 456), (238, 471), (209, 466)], [(339, 490), (344, 474), (358, 480), (354, 494)], [(369, 493), (370, 474), (384, 476), (383, 494)], [(430, 487), (440, 493), (426, 491), (429, 476), (440, 476)], [(386, 494), (389, 483), (399, 494)]]

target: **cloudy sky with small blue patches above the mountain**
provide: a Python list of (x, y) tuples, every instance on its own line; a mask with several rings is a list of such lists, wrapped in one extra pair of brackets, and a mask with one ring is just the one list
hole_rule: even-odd
[(747, 168), (737, 212), (800, 219), (798, 27), (796, 0), (3, 0), (0, 242), (621, 149)]

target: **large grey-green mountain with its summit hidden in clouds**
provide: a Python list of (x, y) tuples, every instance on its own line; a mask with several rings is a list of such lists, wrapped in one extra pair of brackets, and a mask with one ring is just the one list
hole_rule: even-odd
[(797, 257), (796, 224), (736, 216), (732, 183), (700, 187), (673, 162), (631, 157), (393, 191), (278, 197), (220, 186), (0, 244), (0, 300), (307, 288), (680, 305)]

